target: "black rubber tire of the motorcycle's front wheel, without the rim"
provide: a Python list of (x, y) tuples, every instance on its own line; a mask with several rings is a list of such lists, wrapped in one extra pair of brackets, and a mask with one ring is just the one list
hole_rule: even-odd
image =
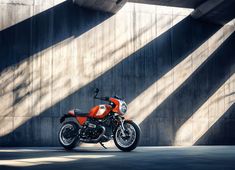
[(138, 146), (139, 141), (140, 141), (141, 131), (140, 131), (139, 126), (136, 125), (133, 121), (129, 121), (129, 120), (125, 121), (124, 122), (124, 126), (125, 126), (126, 123), (131, 124), (134, 127), (135, 131), (136, 131), (136, 139), (135, 139), (134, 143), (131, 146), (129, 146), (129, 147), (122, 147), (122, 146), (120, 146), (118, 144), (118, 142), (117, 142), (117, 139), (116, 139), (116, 133), (117, 133), (118, 128), (114, 132), (114, 143), (115, 143), (115, 145), (117, 146), (118, 149), (120, 149), (120, 150), (122, 150), (124, 152), (130, 152), (130, 151), (134, 150)]

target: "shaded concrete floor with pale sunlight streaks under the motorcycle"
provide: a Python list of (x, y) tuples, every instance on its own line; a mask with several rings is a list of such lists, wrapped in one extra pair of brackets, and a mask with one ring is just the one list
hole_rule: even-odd
[(117, 149), (0, 148), (0, 169), (234, 169), (235, 146)]

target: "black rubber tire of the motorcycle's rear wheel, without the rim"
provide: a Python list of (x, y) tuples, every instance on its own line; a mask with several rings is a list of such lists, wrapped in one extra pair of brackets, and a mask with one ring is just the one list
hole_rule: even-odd
[(65, 145), (65, 144), (63, 144), (63, 142), (61, 141), (61, 130), (62, 130), (62, 128), (63, 128), (65, 125), (68, 125), (68, 124), (72, 125), (76, 131), (79, 130), (79, 126), (78, 126), (77, 123), (72, 122), (72, 121), (70, 121), (70, 122), (65, 122), (65, 123), (63, 123), (63, 125), (61, 126), (60, 131), (59, 131), (59, 133), (58, 133), (58, 140), (59, 140), (60, 144), (61, 144), (66, 150), (72, 150), (73, 148), (75, 148), (75, 147), (77, 146), (77, 143), (78, 143), (78, 140), (79, 140), (78, 137), (75, 137), (75, 139), (73, 140), (73, 142), (72, 142), (71, 144), (69, 144), (69, 145)]

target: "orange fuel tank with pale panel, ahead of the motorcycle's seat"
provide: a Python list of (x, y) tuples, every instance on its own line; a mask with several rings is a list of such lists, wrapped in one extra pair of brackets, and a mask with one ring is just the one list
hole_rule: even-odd
[(98, 105), (91, 108), (88, 117), (102, 119), (112, 110), (110, 105)]

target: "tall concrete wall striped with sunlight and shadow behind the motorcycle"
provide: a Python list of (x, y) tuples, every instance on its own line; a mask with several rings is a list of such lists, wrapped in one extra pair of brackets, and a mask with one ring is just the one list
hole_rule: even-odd
[(0, 146), (57, 146), (59, 117), (98, 104), (94, 87), (125, 97), (142, 145), (235, 143), (234, 23), (132, 3), (115, 15), (55, 0), (0, 8)]

